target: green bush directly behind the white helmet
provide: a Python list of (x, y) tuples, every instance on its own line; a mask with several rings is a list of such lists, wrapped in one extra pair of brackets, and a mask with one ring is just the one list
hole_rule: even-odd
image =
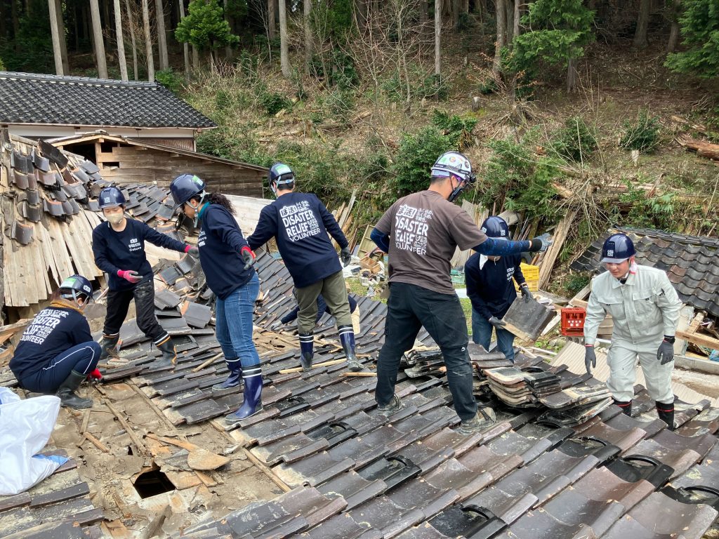
[(391, 169), (394, 194), (403, 196), (426, 189), (432, 165), (437, 157), (451, 149), (457, 149), (454, 137), (435, 126), (427, 126), (416, 134), (405, 134)]

